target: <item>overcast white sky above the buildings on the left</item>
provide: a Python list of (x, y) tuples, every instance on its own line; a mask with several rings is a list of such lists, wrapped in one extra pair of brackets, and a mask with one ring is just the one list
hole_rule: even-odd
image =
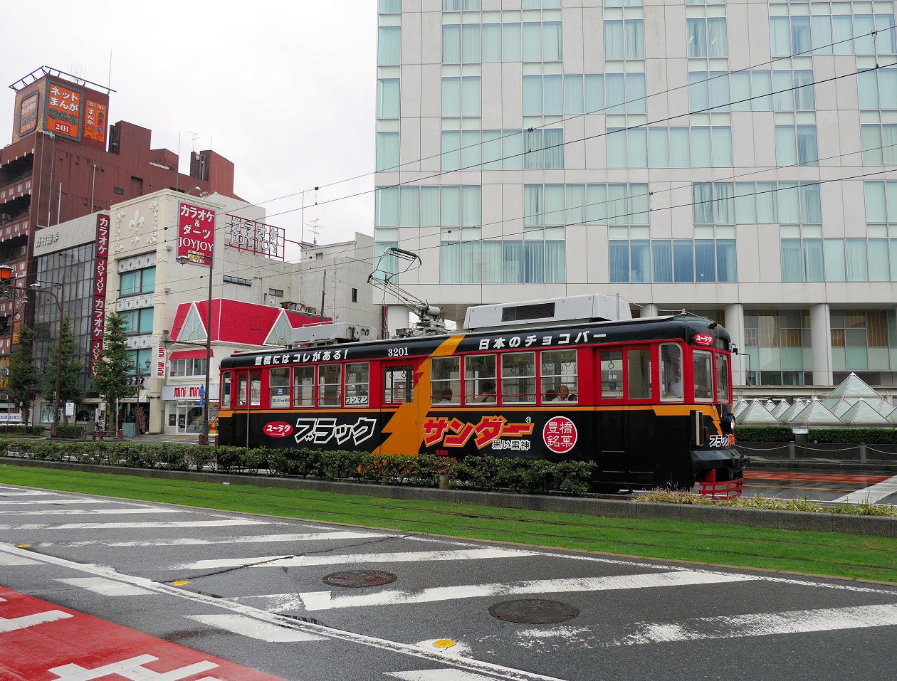
[[(47, 65), (109, 85), (109, 122), (149, 128), (152, 148), (177, 153), (180, 136), (181, 172), (193, 149), (230, 159), (236, 194), (288, 239), (303, 190), (307, 241), (316, 219), (321, 244), (372, 234), (376, 0), (0, 0), (0, 26), (0, 147), (7, 86)], [(314, 207), (316, 185), (318, 202), (366, 194)]]

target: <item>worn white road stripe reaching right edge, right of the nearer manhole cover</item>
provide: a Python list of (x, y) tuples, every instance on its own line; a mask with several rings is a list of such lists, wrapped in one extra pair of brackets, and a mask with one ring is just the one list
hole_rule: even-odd
[(822, 608), (749, 615), (697, 617), (684, 623), (642, 623), (640, 628), (607, 645), (702, 641), (745, 636), (806, 634), (839, 629), (897, 625), (897, 603), (855, 608)]

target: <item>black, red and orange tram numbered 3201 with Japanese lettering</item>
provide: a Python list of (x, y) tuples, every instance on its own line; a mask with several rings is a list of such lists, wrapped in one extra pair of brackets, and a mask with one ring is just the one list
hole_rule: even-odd
[(222, 359), (219, 444), (594, 461), (597, 491), (740, 490), (721, 325), (489, 307), (504, 322), (488, 330), (324, 344), (320, 326), (304, 347)]

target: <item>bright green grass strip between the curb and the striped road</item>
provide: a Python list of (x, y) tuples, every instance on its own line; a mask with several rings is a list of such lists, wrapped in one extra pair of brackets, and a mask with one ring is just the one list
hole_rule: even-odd
[(534, 547), (897, 582), (897, 539), (886, 537), (603, 518), (5, 464), (0, 483)]

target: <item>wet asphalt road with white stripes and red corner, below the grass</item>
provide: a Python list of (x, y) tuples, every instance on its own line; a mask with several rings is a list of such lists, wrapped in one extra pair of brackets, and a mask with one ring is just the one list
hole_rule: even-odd
[(895, 635), (891, 585), (0, 486), (3, 681), (877, 681)]

